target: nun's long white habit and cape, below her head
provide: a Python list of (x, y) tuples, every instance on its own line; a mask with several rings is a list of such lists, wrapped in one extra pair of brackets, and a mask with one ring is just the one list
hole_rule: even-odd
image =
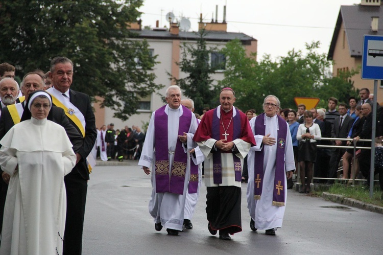
[(0, 254), (62, 254), (64, 176), (76, 163), (65, 129), (32, 118), (13, 126), (0, 143), (0, 166), (11, 175)]

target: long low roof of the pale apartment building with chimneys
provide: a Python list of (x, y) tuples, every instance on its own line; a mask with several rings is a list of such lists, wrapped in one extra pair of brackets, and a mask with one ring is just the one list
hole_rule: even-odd
[[(132, 30), (134, 33), (138, 33), (138, 38), (151, 38), (151, 39), (180, 39), (180, 40), (197, 40), (200, 38), (198, 32), (184, 32), (180, 31), (178, 35), (172, 35), (168, 30), (156, 31), (156, 30)], [(232, 32), (220, 32), (220, 31), (208, 31), (204, 38), (207, 41), (230, 41), (233, 39), (240, 39), (243, 43), (245, 41), (256, 41), (251, 36), (244, 33), (232, 33)]]

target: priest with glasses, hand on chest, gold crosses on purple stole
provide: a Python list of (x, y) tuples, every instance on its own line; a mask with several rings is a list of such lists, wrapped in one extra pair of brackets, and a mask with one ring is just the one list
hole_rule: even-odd
[(293, 143), (288, 123), (276, 113), (279, 99), (269, 95), (264, 100), (265, 112), (251, 119), (256, 146), (248, 157), (249, 181), (247, 203), (253, 231), (265, 229), (275, 236), (282, 226), (287, 198), (287, 181), (295, 170)]

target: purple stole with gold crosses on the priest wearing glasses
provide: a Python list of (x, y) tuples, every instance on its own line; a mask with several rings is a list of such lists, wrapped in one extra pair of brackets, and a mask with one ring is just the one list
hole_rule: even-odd
[[(278, 118), (278, 137), (277, 155), (275, 164), (273, 205), (284, 206), (284, 146), (286, 144), (287, 125), (286, 121), (277, 115)], [(254, 135), (265, 135), (265, 113), (258, 115), (254, 123)], [(255, 151), (254, 156), (254, 199), (260, 199), (262, 194), (262, 184), (264, 181), (264, 150)]]

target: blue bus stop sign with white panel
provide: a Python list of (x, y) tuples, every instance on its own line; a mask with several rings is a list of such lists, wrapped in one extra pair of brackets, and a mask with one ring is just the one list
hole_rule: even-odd
[(363, 36), (362, 79), (383, 80), (383, 36)]

